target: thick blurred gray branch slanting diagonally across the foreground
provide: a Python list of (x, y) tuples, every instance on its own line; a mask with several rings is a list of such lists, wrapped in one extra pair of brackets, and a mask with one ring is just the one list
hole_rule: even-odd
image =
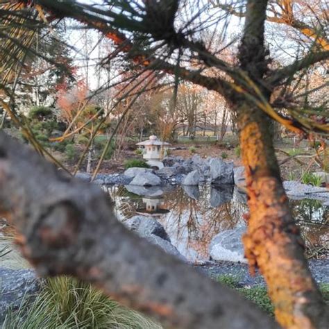
[[(65, 176), (0, 132), (0, 211), (41, 276), (69, 274), (174, 328), (278, 328), (236, 292), (115, 219), (99, 187)], [(8, 214), (7, 214), (8, 215)]]

